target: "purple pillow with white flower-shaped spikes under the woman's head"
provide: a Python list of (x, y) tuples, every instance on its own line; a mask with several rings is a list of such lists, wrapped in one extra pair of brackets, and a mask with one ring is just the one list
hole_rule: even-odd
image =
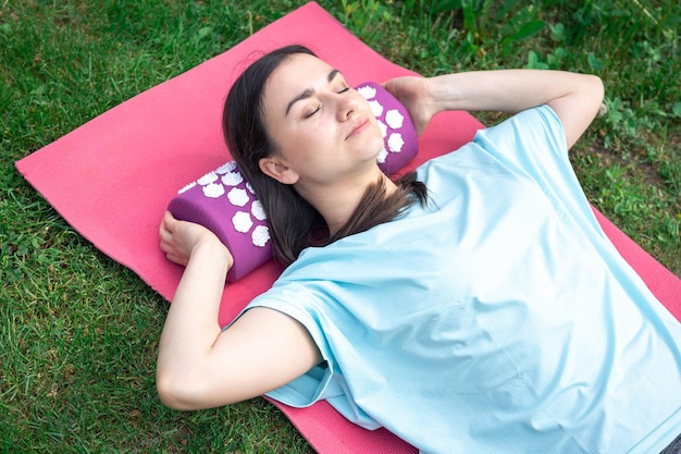
[[(376, 159), (387, 175), (396, 173), (418, 152), (417, 133), (407, 109), (373, 82), (356, 88), (370, 103), (381, 132), (383, 150)], [(189, 183), (177, 192), (168, 209), (176, 219), (196, 222), (213, 232), (230, 249), (234, 282), (272, 258), (270, 230), (262, 205), (235, 161)]]

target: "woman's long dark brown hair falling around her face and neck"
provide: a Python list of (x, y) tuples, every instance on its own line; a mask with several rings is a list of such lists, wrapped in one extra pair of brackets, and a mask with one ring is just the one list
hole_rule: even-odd
[[(289, 265), (311, 244), (329, 244), (391, 221), (414, 201), (426, 201), (425, 185), (411, 172), (396, 183), (398, 191), (386, 195), (382, 182), (372, 184), (359, 206), (338, 232), (329, 237), (321, 214), (292, 185), (265, 175), (260, 159), (274, 152), (274, 143), (264, 123), (263, 91), (270, 75), (292, 54), (312, 51), (302, 46), (286, 46), (256, 60), (235, 81), (224, 105), (222, 127), (232, 157), (262, 203), (272, 236), (274, 254)], [(313, 232), (322, 234), (312, 237)]]

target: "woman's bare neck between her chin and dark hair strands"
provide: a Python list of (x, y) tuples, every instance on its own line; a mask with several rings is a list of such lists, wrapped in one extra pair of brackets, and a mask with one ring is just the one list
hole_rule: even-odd
[(296, 183), (296, 191), (307, 199), (324, 218), (333, 236), (345, 225), (372, 184), (384, 184), (386, 194), (393, 194), (397, 186), (376, 167), (377, 172), (362, 179), (348, 179), (330, 185), (306, 185)]

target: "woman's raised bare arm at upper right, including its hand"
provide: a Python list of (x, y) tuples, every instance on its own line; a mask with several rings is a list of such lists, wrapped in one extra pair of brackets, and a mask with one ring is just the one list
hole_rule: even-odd
[(565, 71), (498, 70), (436, 77), (398, 77), (385, 87), (409, 110), (419, 133), (445, 110), (517, 113), (548, 105), (560, 119), (568, 148), (595, 118), (604, 88), (594, 75)]

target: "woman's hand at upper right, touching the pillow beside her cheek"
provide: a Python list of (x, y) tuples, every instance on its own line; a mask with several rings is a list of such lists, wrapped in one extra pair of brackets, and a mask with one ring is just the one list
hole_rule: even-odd
[(426, 78), (417, 76), (396, 77), (383, 84), (407, 108), (418, 135), (425, 131), (433, 115), (437, 113), (431, 102), (428, 84)]

